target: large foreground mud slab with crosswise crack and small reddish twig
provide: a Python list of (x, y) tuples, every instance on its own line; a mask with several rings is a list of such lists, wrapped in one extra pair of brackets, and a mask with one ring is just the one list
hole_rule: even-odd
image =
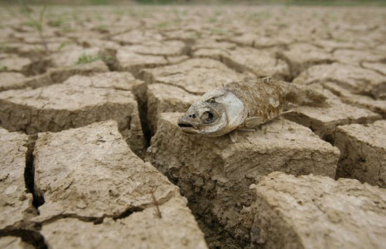
[(34, 169), (48, 247), (206, 248), (178, 187), (131, 152), (115, 121), (40, 133)]

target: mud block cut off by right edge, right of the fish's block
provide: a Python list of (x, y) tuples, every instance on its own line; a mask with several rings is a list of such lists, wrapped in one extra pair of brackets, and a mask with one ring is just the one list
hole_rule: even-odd
[(340, 149), (337, 178), (355, 178), (386, 188), (386, 121), (338, 126), (334, 145)]

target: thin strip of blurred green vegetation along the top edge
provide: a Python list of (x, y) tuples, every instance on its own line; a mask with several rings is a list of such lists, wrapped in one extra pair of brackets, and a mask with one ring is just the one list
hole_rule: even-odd
[[(18, 4), (18, 1), (0, 0), (0, 4)], [(25, 4), (284, 4), (317, 6), (386, 6), (386, 0), (25, 0)]]

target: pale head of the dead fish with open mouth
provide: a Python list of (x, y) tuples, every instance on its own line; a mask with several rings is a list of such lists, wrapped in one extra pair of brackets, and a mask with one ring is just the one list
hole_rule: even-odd
[(185, 133), (216, 137), (237, 128), (233, 118), (243, 112), (244, 105), (236, 95), (225, 88), (215, 88), (189, 107), (178, 119), (178, 126)]

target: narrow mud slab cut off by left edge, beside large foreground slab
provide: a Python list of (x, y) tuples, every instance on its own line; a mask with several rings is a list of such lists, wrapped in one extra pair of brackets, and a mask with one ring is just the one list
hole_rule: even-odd
[(27, 140), (27, 135), (0, 128), (0, 234), (22, 227), (35, 212), (25, 184)]

